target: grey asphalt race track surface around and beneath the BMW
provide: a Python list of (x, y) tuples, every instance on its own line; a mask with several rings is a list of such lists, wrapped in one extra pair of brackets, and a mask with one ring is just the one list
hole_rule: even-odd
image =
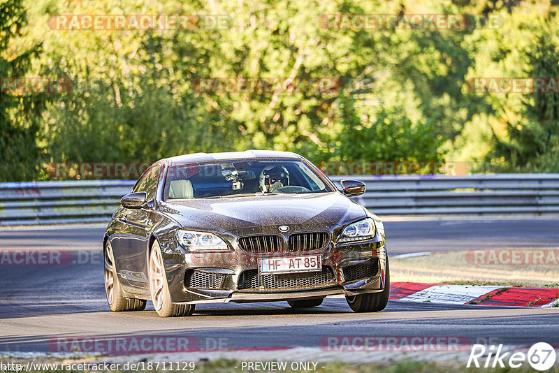
[[(556, 219), (387, 221), (391, 255), (419, 251), (559, 247)], [(559, 309), (437, 305), (390, 301), (384, 312), (355, 314), (342, 298), (295, 310), (286, 302), (198, 305), (194, 316), (163, 319), (146, 311), (113, 313), (103, 288), (104, 228), (3, 228), (0, 249), (75, 250), (64, 265), (0, 265), (0, 355), (61, 351), (55, 338), (194, 337), (200, 348), (317, 347), (328, 336), (459, 337), (476, 343), (559, 346)], [(209, 346), (209, 345), (208, 345)], [(242, 357), (242, 351), (239, 352)], [(270, 358), (273, 353), (270, 352)]]

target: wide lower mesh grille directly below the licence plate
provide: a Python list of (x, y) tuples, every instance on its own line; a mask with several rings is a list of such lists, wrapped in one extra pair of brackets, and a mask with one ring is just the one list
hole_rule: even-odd
[(330, 267), (321, 272), (286, 273), (282, 275), (259, 275), (258, 270), (246, 270), (239, 276), (238, 290), (279, 291), (322, 288), (336, 284)]

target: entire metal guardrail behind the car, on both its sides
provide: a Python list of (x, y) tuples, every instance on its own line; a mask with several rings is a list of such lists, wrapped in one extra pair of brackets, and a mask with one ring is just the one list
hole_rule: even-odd
[[(559, 174), (335, 176), (379, 215), (559, 213)], [(108, 222), (133, 180), (0, 183), (0, 225)]]

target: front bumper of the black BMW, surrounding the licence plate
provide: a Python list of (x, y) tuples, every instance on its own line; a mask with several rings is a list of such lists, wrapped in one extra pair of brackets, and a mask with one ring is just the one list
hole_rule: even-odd
[[(386, 286), (384, 237), (337, 247), (331, 244), (317, 254), (322, 255), (323, 272), (328, 272), (319, 279), (317, 272), (263, 275), (266, 284), (260, 282), (263, 277), (258, 275), (257, 265), (258, 258), (266, 256), (240, 249), (226, 254), (164, 254), (164, 262), (171, 299), (180, 304), (357, 295), (383, 291)], [(270, 280), (270, 276), (276, 278)]]

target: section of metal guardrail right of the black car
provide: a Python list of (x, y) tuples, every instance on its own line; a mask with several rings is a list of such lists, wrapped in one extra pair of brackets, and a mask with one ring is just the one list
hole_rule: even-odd
[[(331, 177), (340, 181), (352, 177)], [(379, 215), (546, 214), (559, 212), (559, 174), (354, 177), (367, 184), (358, 203)]]

